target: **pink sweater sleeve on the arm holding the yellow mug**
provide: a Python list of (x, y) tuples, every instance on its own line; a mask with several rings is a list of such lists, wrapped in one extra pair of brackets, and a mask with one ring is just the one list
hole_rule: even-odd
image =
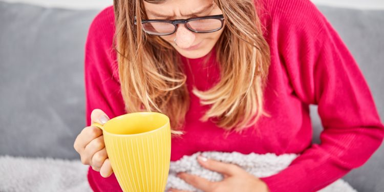
[(101, 109), (110, 118), (124, 114), (124, 102), (118, 79), (116, 52), (113, 50), (114, 16), (112, 7), (93, 20), (86, 42), (84, 77), (86, 83), (86, 120)]

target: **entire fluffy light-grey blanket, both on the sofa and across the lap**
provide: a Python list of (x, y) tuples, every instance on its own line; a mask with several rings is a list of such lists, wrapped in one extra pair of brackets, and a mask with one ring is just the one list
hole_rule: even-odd
[[(184, 156), (170, 162), (166, 189), (169, 187), (200, 191), (176, 177), (177, 172), (187, 172), (211, 181), (220, 181), (223, 177), (204, 169), (197, 162), (200, 153)], [(227, 163), (236, 163), (248, 173), (257, 177), (267, 177), (280, 172), (297, 156), (295, 154), (249, 154), (203, 152), (205, 157)], [(61, 160), (52, 158), (23, 158), (0, 156), (0, 191), (92, 191), (87, 181), (88, 166), (79, 160)], [(337, 180), (321, 192), (356, 192), (347, 182)]]

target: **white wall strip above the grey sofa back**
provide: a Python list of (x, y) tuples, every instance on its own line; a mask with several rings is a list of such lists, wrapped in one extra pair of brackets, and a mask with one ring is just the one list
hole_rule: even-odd
[[(47, 7), (74, 9), (103, 8), (112, 5), (112, 0), (0, 0), (6, 2), (24, 2)], [(348, 7), (356, 9), (383, 9), (384, 0), (311, 0), (318, 5)]]

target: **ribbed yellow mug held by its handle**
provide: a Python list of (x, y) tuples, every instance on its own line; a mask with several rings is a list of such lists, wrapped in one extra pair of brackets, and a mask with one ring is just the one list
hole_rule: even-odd
[(106, 153), (123, 191), (164, 191), (170, 163), (169, 118), (137, 112), (110, 119), (103, 131)]

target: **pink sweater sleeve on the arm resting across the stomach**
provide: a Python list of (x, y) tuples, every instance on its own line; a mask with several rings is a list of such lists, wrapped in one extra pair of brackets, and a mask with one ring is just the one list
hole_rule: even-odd
[(324, 130), (321, 144), (260, 179), (271, 192), (317, 191), (364, 164), (380, 146), (384, 127), (356, 61), (324, 15), (307, 0), (271, 2), (272, 46), (295, 95), (318, 105)]

